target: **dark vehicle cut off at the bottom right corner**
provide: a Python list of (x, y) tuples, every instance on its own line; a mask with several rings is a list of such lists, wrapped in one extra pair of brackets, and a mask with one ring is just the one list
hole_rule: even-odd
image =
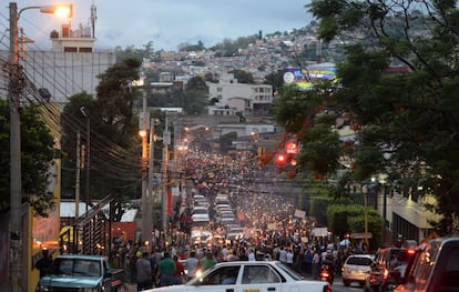
[(407, 266), (402, 283), (394, 291), (459, 291), (459, 238), (421, 243)]

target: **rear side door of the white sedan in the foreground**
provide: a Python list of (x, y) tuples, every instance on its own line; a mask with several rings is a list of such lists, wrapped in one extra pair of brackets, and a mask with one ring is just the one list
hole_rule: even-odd
[(280, 292), (282, 280), (268, 265), (245, 264), (241, 285), (234, 292)]

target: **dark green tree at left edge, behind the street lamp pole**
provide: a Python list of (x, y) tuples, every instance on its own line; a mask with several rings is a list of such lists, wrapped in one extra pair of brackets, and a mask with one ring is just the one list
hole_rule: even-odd
[[(43, 119), (40, 108), (29, 105), (21, 108), (21, 168), (22, 202), (29, 202), (35, 214), (47, 217), (54, 205), (53, 193), (48, 190), (52, 179), (50, 168), (60, 153), (54, 149), (54, 139)], [(10, 122), (9, 107), (0, 99), (0, 210), (4, 212), (10, 205)]]

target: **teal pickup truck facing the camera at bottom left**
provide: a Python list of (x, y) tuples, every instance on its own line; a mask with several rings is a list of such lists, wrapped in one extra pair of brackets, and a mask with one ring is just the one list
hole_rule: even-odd
[(116, 292), (123, 283), (123, 270), (112, 269), (106, 256), (58, 255), (37, 285), (35, 292)]

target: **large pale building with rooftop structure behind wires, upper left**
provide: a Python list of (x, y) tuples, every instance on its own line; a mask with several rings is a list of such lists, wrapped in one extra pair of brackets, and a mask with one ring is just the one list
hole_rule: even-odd
[[(20, 63), (28, 79), (26, 85), (45, 89), (45, 99), (53, 103), (65, 103), (69, 97), (82, 91), (95, 95), (96, 77), (115, 63), (115, 54), (95, 52), (95, 38), (90, 29), (81, 26), (72, 31), (63, 24), (60, 32), (54, 30), (50, 33), (50, 40), (51, 51), (27, 49), (23, 52)], [(0, 53), (3, 60), (8, 60), (9, 51)]]

